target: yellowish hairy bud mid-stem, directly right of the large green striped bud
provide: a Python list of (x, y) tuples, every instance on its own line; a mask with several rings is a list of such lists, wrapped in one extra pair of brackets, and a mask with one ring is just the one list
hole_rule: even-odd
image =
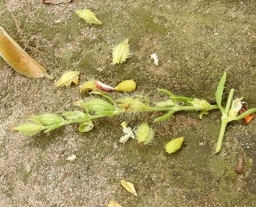
[(144, 104), (137, 98), (124, 98), (119, 100), (118, 106), (128, 112), (146, 112), (150, 110), (150, 106)]

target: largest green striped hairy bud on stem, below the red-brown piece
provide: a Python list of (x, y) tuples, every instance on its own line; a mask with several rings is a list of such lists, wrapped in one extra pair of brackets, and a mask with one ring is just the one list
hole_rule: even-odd
[(116, 107), (102, 99), (91, 99), (89, 101), (78, 101), (75, 105), (82, 106), (89, 112), (114, 111)]

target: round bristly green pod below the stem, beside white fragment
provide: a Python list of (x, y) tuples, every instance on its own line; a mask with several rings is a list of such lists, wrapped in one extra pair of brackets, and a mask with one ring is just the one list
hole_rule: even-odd
[(147, 123), (142, 123), (136, 130), (136, 139), (140, 145), (146, 145), (154, 141), (155, 132)]

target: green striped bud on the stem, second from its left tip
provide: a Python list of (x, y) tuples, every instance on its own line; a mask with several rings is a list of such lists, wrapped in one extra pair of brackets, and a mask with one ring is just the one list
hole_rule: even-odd
[(55, 114), (43, 114), (39, 116), (33, 115), (29, 120), (35, 121), (43, 126), (58, 124), (64, 121), (62, 117)]

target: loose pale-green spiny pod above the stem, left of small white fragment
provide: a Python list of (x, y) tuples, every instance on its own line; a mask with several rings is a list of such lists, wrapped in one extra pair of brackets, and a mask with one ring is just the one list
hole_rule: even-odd
[(123, 42), (119, 43), (114, 47), (112, 52), (112, 64), (123, 63), (126, 59), (131, 57), (131, 51), (128, 41), (128, 39), (125, 39)]

